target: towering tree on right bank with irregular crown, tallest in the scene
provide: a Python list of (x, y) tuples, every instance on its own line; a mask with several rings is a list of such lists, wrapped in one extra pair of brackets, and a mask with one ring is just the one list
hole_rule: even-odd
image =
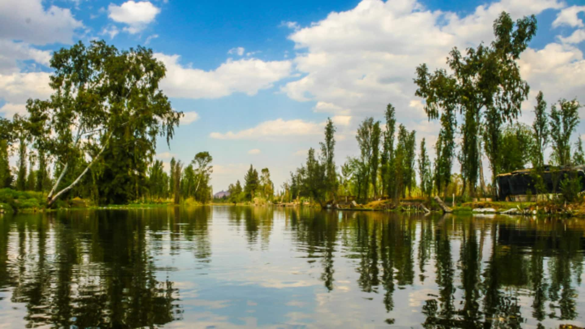
[(489, 46), (481, 43), (476, 49), (467, 48), (464, 54), (456, 47), (451, 50), (447, 64), (452, 73), (441, 69), (429, 73), (426, 64), (421, 64), (415, 78), (415, 94), (425, 98), (429, 119), (450, 111), (463, 116), (460, 159), (472, 194), (480, 170), (481, 126), (486, 125), (486, 135), (496, 135), (498, 121), (517, 118), (522, 101), (528, 97), (528, 83), (520, 76), (517, 60), (536, 34), (536, 18), (532, 15), (514, 23), (508, 13), (502, 12), (493, 28), (495, 40)]

